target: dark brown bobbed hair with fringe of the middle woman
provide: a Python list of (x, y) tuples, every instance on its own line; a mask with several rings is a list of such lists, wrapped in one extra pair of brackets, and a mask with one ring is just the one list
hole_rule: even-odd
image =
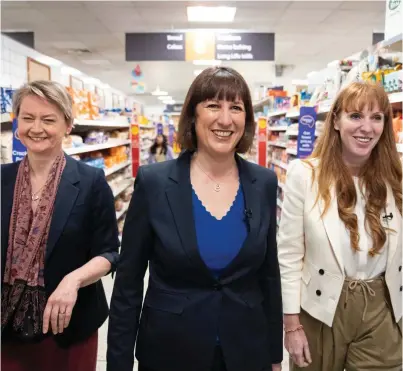
[(230, 67), (211, 67), (201, 72), (193, 81), (187, 93), (178, 125), (178, 142), (182, 149), (195, 151), (196, 106), (209, 99), (241, 99), (245, 106), (245, 131), (236, 146), (236, 151), (249, 151), (255, 136), (256, 123), (253, 114), (252, 98), (244, 78)]

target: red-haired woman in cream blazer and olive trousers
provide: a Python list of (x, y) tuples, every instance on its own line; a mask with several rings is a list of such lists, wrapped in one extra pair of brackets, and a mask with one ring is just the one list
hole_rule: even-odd
[(401, 215), (388, 96), (353, 83), (287, 174), (278, 250), (291, 370), (402, 369)]

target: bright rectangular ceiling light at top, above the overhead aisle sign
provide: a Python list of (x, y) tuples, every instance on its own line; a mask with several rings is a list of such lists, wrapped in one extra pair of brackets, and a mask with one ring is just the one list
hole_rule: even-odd
[(188, 6), (189, 22), (233, 22), (236, 7), (229, 6)]

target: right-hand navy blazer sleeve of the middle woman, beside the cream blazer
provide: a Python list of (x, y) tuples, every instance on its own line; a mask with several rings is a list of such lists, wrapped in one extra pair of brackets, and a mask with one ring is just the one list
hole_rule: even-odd
[(277, 184), (277, 177), (273, 174), (267, 189), (269, 194), (270, 225), (267, 234), (266, 259), (260, 272), (261, 287), (265, 294), (263, 307), (269, 323), (270, 358), (273, 364), (283, 361), (283, 308), (276, 240)]

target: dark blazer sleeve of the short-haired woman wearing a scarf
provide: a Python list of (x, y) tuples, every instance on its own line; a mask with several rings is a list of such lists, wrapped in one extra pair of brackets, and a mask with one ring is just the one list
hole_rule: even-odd
[(91, 221), (91, 258), (104, 257), (114, 272), (119, 259), (119, 232), (113, 193), (102, 170), (97, 171), (93, 184)]

